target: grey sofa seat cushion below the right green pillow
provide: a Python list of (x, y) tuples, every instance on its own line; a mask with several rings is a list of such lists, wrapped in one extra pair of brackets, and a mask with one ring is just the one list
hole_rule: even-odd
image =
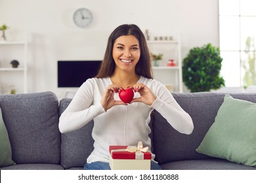
[(173, 161), (161, 164), (163, 170), (256, 170), (242, 164), (233, 163), (226, 159), (196, 159)]

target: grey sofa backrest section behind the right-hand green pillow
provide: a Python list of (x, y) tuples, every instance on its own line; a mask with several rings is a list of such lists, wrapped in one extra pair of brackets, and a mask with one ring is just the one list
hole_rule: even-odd
[[(167, 163), (184, 159), (210, 159), (196, 152), (215, 121), (215, 116), (224, 101), (225, 93), (198, 92), (198, 93), (173, 93), (173, 97), (181, 107), (190, 114), (194, 122), (194, 131), (191, 135), (177, 132), (158, 113), (154, 114), (153, 145), (156, 161)], [(230, 93), (236, 99), (256, 103), (256, 93)]]

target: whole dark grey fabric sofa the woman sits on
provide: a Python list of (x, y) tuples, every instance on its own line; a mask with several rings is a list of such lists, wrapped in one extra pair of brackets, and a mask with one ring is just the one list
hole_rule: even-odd
[[(230, 93), (256, 103), (256, 93)], [(173, 93), (194, 122), (191, 135), (178, 133), (156, 111), (150, 122), (152, 151), (163, 169), (256, 169), (196, 152), (213, 124), (224, 93)], [(16, 165), (0, 169), (83, 169), (93, 150), (93, 122), (60, 134), (58, 118), (72, 99), (60, 102), (52, 92), (0, 95), (3, 120)]]

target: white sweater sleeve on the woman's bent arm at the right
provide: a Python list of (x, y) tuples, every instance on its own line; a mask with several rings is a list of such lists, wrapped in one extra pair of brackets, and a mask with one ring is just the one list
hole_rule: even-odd
[(157, 93), (157, 98), (150, 107), (156, 109), (180, 133), (191, 134), (194, 125), (190, 115), (180, 107), (165, 86), (161, 86)]

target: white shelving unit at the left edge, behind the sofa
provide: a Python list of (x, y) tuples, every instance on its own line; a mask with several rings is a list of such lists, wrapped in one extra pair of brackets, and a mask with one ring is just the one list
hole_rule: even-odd
[[(27, 93), (27, 47), (26, 40), (0, 42), (0, 93)], [(14, 59), (17, 68), (12, 68)]]

